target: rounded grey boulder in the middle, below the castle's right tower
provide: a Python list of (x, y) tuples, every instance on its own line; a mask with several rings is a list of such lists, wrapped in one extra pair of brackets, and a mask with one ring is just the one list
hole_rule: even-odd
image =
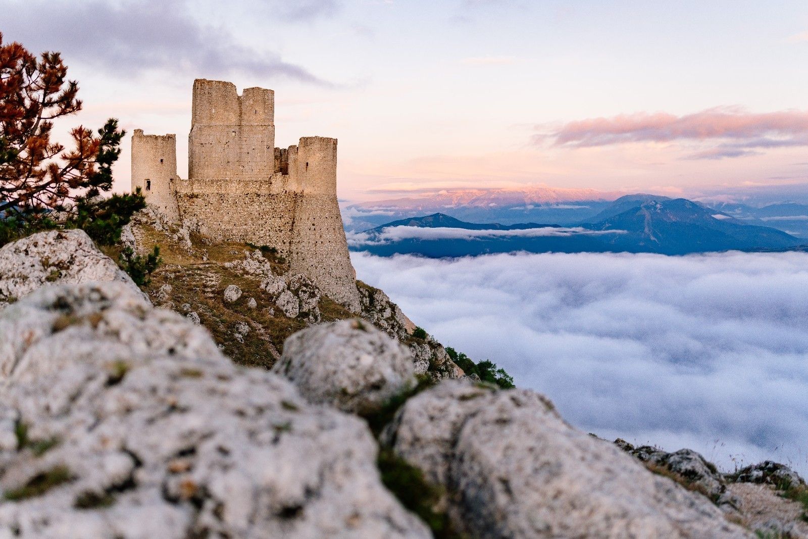
[(406, 349), (360, 320), (298, 331), (284, 343), (272, 372), (288, 378), (310, 402), (343, 411), (373, 411), (415, 385)]

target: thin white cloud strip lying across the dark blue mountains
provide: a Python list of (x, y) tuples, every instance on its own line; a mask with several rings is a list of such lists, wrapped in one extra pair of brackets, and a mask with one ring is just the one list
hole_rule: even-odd
[(407, 239), (441, 240), (441, 239), (490, 239), (490, 238), (548, 238), (566, 236), (600, 236), (603, 234), (625, 234), (625, 230), (588, 230), (579, 226), (572, 228), (543, 226), (535, 229), (521, 230), (469, 230), (450, 227), (426, 228), (421, 226), (389, 226), (379, 234), (348, 233), (348, 245), (381, 245), (401, 242)]

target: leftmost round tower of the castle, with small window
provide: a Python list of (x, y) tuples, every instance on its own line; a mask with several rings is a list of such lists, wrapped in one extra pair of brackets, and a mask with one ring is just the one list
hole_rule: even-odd
[(132, 136), (132, 192), (141, 188), (146, 202), (158, 208), (172, 222), (179, 222), (174, 194), (177, 175), (177, 137), (144, 135), (135, 129)]

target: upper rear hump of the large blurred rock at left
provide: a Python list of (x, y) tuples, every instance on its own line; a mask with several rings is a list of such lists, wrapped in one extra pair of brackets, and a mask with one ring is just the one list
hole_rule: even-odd
[(225, 360), (204, 328), (116, 282), (40, 288), (0, 316), (0, 383), (58, 371), (65, 358), (133, 354)]

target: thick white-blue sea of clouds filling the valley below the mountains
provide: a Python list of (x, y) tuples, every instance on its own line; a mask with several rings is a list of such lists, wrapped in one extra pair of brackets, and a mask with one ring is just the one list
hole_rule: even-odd
[(808, 254), (351, 258), (444, 345), (587, 432), (808, 475)]

